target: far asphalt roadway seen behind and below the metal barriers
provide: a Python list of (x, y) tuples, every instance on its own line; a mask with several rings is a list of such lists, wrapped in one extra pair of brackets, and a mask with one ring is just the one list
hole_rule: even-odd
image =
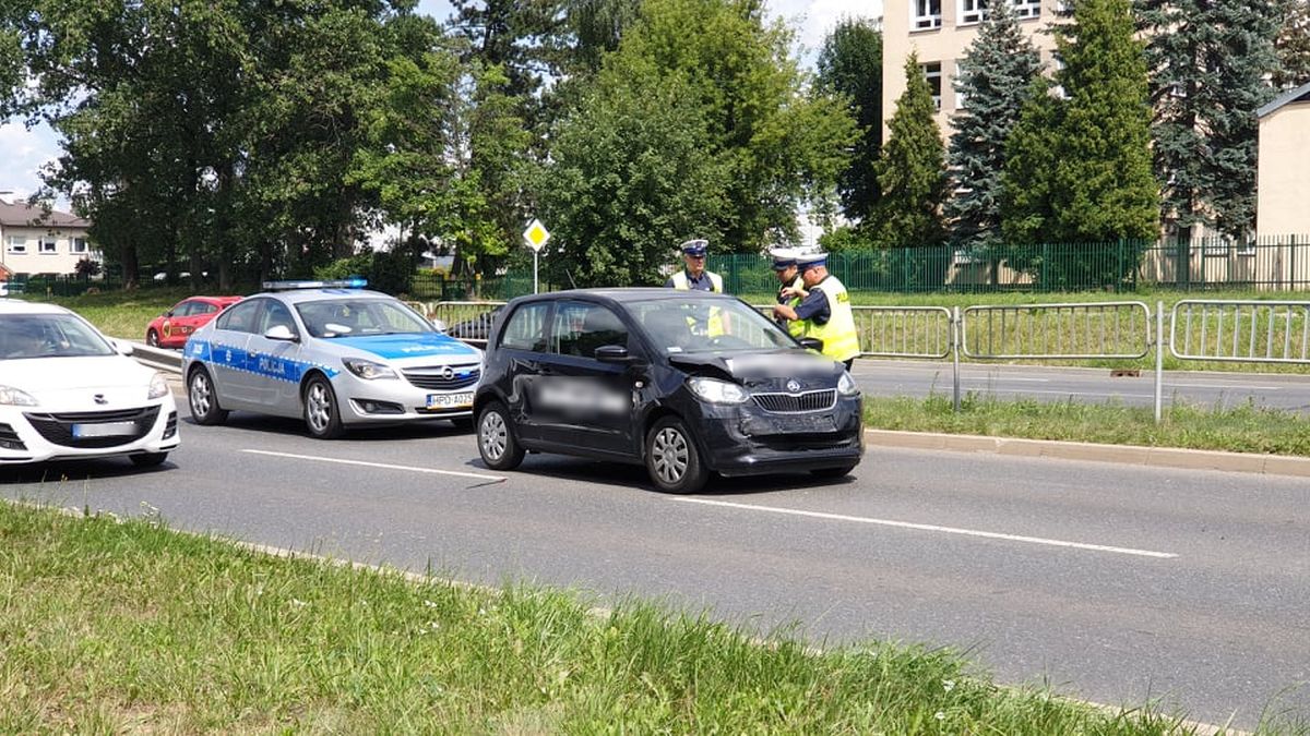
[[(952, 390), (951, 364), (945, 361), (862, 359), (855, 361), (853, 375), (870, 396), (948, 397)], [(1165, 406), (1179, 401), (1231, 407), (1252, 401), (1258, 406), (1310, 413), (1310, 369), (1306, 375), (1166, 371), (1162, 384)], [(1155, 376), (1150, 371), (1137, 377), (1112, 377), (1108, 368), (962, 363), (960, 390), (1006, 401), (1072, 398), (1083, 403), (1153, 406)]]

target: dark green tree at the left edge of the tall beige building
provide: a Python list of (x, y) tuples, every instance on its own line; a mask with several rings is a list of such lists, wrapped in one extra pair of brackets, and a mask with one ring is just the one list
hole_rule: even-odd
[(883, 148), (883, 31), (878, 21), (842, 18), (819, 51), (819, 84), (844, 94), (859, 126), (850, 164), (837, 183), (848, 220), (870, 217), (882, 190), (878, 157)]

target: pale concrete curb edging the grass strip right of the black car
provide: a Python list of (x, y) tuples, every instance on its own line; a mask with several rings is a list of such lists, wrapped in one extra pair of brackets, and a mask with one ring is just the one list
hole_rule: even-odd
[(989, 452), (1014, 457), (1089, 460), (1093, 462), (1116, 462), (1120, 465), (1144, 465), (1150, 468), (1224, 470), (1227, 473), (1263, 473), (1268, 475), (1310, 478), (1310, 457), (1292, 457), (1285, 454), (1024, 440), (982, 435), (946, 435), (939, 432), (895, 432), (889, 430), (865, 430), (865, 432), (870, 444), (887, 448)]

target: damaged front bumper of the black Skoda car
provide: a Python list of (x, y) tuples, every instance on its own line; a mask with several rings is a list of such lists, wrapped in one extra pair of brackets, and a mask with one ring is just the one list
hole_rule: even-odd
[(726, 477), (848, 468), (865, 454), (858, 397), (804, 414), (714, 407), (702, 428), (706, 464)]

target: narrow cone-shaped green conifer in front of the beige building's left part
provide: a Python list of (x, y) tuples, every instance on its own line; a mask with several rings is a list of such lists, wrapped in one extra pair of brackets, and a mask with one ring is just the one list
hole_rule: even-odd
[(938, 245), (946, 240), (946, 147), (918, 54), (905, 59), (905, 92), (896, 100), (883, 145), (878, 183), (878, 236), (882, 245)]

